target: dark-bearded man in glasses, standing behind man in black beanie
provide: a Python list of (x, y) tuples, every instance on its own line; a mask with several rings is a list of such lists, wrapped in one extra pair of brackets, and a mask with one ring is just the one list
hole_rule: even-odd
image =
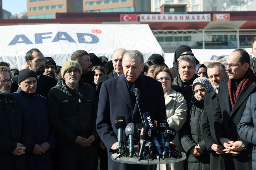
[(32, 48), (26, 53), (26, 61), (29, 70), (36, 73), (37, 87), (36, 93), (48, 98), (48, 93), (57, 82), (49, 76), (43, 75), (44, 73), (44, 55), (37, 48)]

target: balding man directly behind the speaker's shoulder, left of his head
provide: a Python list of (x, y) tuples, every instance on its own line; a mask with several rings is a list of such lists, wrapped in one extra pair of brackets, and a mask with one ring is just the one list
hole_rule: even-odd
[(123, 66), (122, 66), (122, 60), (123, 60), (123, 55), (124, 55), (124, 52), (127, 51), (126, 49), (124, 48), (118, 48), (116, 49), (114, 52), (113, 52), (113, 60), (112, 60), (112, 63), (113, 63), (113, 68), (114, 70), (108, 74), (108, 75), (105, 75), (105, 76), (102, 76), (99, 80), (98, 80), (98, 84), (97, 84), (97, 89), (96, 89), (96, 93), (99, 97), (100, 95), (100, 87), (101, 87), (101, 84), (104, 82), (104, 81), (107, 81), (108, 79), (110, 78), (113, 78), (113, 77), (117, 77), (119, 75), (121, 75), (123, 73)]

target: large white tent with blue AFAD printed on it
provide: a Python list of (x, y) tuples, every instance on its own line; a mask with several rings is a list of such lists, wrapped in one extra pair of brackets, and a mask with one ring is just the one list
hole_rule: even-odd
[(44, 24), (0, 26), (0, 61), (18, 68), (25, 55), (38, 48), (57, 65), (70, 60), (78, 49), (112, 60), (117, 48), (141, 51), (145, 60), (154, 53), (164, 55), (148, 25)]

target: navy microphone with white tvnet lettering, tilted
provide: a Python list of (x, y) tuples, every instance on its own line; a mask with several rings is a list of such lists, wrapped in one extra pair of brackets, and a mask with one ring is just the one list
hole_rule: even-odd
[(161, 146), (159, 144), (159, 140), (158, 140), (158, 135), (157, 135), (157, 130), (156, 130), (156, 125), (155, 125), (155, 122), (153, 120), (153, 117), (151, 116), (150, 112), (146, 112), (143, 114), (143, 118), (144, 118), (144, 121), (145, 121), (145, 125), (149, 126), (152, 130), (153, 130), (153, 141), (154, 141), (154, 144), (156, 146), (156, 150), (157, 150), (157, 153), (158, 153), (158, 156), (162, 156), (163, 152), (161, 150)]

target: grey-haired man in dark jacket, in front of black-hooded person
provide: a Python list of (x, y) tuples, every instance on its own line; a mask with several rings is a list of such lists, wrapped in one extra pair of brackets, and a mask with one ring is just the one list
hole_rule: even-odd
[(192, 107), (191, 98), (194, 95), (192, 83), (198, 78), (196, 72), (196, 60), (194, 56), (182, 55), (179, 57), (179, 75), (173, 79), (172, 89), (180, 92), (187, 101), (188, 113)]

